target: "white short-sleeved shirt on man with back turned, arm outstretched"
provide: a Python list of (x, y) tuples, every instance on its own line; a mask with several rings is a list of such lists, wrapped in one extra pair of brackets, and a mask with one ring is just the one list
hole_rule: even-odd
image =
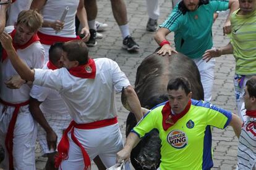
[(77, 78), (66, 68), (58, 70), (35, 69), (33, 84), (50, 87), (60, 92), (76, 123), (90, 123), (114, 118), (115, 91), (130, 86), (126, 75), (111, 59), (94, 59), (95, 79)]

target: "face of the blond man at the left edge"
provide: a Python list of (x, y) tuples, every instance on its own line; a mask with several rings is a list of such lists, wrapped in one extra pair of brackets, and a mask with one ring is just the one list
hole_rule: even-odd
[(27, 25), (23, 23), (19, 23), (17, 25), (15, 24), (14, 28), (16, 30), (14, 42), (19, 45), (26, 44), (35, 34), (28, 28)]

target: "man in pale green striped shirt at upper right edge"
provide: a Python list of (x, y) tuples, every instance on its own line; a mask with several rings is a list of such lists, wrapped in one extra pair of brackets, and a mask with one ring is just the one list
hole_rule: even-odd
[(244, 102), (245, 83), (256, 75), (256, 1), (239, 0), (239, 9), (231, 15), (231, 41), (218, 49), (205, 51), (203, 59), (207, 62), (213, 57), (233, 54), (236, 59), (234, 87), (237, 110), (240, 118), (241, 106)]

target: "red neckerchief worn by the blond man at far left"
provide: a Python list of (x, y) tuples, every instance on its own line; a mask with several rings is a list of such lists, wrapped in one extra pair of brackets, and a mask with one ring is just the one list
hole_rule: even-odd
[[(12, 46), (14, 46), (14, 49), (15, 51), (17, 51), (17, 49), (25, 49), (27, 48), (28, 46), (30, 46), (30, 44), (33, 44), (35, 41), (39, 41), (40, 39), (38, 38), (37, 34), (35, 33), (32, 38), (26, 43), (26, 44), (23, 44), (23, 45), (19, 45), (19, 44), (16, 44), (14, 42), (14, 36), (15, 36), (15, 33), (16, 33), (16, 30), (14, 29), (10, 35), (12, 37)], [(4, 60), (7, 59), (7, 52), (5, 49), (2, 49), (2, 62), (4, 62)]]

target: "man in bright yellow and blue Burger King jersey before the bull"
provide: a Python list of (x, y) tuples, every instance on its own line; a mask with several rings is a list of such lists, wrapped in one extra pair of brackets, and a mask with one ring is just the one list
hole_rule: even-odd
[(117, 163), (129, 160), (139, 140), (157, 129), (161, 139), (159, 169), (210, 169), (211, 126), (224, 129), (231, 125), (239, 137), (242, 121), (229, 111), (191, 99), (191, 85), (186, 78), (171, 79), (167, 91), (169, 100), (148, 111), (132, 129), (126, 145), (117, 153)]

